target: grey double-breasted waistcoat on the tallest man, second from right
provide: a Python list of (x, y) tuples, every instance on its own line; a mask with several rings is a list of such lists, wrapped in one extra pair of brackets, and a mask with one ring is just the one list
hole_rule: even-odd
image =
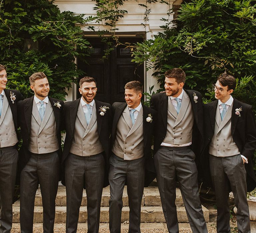
[(194, 115), (188, 94), (184, 91), (179, 114), (168, 98), (167, 132), (163, 142), (181, 145), (192, 141)]

